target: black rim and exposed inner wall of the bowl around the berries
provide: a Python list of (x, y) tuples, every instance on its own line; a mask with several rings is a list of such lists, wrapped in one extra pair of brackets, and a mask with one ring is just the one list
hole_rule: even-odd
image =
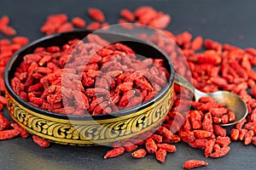
[[(53, 45), (61, 47), (62, 45), (67, 43), (67, 41), (69, 40), (73, 40), (74, 38), (83, 39), (90, 33), (92, 33), (92, 31), (71, 31), (71, 32), (54, 34), (54, 35), (40, 38), (37, 41), (30, 43), (26, 47), (21, 48), (9, 60), (9, 64), (6, 67), (4, 80), (5, 80), (5, 87), (9, 91), (9, 94), (12, 95), (12, 97), (14, 97), (16, 100), (18, 100), (21, 105), (25, 106), (29, 110), (38, 112), (40, 114), (43, 114), (46, 116), (54, 116), (56, 118), (62, 118), (62, 119), (64, 118), (64, 119), (74, 119), (74, 120), (81, 120), (81, 119), (86, 120), (87, 116), (61, 115), (58, 113), (41, 110), (33, 105), (26, 103), (26, 101), (24, 101), (23, 99), (20, 99), (20, 97), (14, 93), (14, 91), (10, 87), (10, 81), (14, 77), (15, 69), (20, 65), (23, 59), (23, 56), (25, 56), (26, 54), (32, 54), (35, 48), (49, 47)], [(90, 119), (93, 118), (95, 120), (102, 120), (102, 119), (108, 119), (116, 116), (125, 116), (133, 112), (140, 111), (148, 107), (148, 105), (153, 105), (155, 101), (159, 100), (161, 96), (165, 95), (168, 89), (171, 88), (173, 77), (174, 77), (174, 68), (172, 65), (172, 61), (171, 59), (169, 59), (169, 56), (160, 48), (158, 48), (156, 45), (154, 45), (151, 42), (146, 42), (143, 39), (140, 39), (137, 37), (131, 37), (129, 35), (125, 35), (117, 32), (96, 31), (93, 33), (99, 35), (103, 39), (106, 39), (108, 42), (121, 42), (127, 45), (128, 47), (132, 48), (136, 52), (136, 54), (140, 54), (144, 57), (164, 59), (166, 70), (169, 71), (169, 73), (171, 74), (171, 77), (169, 80), (167, 80), (166, 87), (163, 88), (159, 94), (157, 94), (153, 99), (150, 99), (147, 102), (143, 103), (142, 105), (139, 105), (139, 108), (138, 106), (134, 106), (125, 110), (113, 112), (112, 114), (90, 116)]]

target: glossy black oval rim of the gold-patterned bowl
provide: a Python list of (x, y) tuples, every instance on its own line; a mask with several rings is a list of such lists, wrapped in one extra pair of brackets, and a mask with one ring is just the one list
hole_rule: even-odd
[[(91, 119), (103, 120), (103, 119), (110, 119), (110, 118), (116, 118), (116, 117), (120, 117), (120, 116), (130, 115), (132, 113), (136, 113), (137, 111), (141, 111), (141, 110), (147, 108), (149, 105), (154, 105), (154, 103), (156, 101), (160, 100), (161, 97), (163, 97), (168, 92), (168, 90), (170, 88), (172, 88), (172, 84), (174, 83), (175, 70), (174, 70), (174, 66), (172, 63), (172, 59), (169, 58), (169, 55), (166, 54), (166, 52), (164, 50), (159, 48), (153, 42), (149, 42), (148, 40), (144, 40), (140, 37), (134, 37), (134, 36), (131, 36), (130, 34), (125, 34), (123, 32), (120, 33), (120, 32), (116, 32), (116, 31), (102, 31), (101, 30), (101, 31), (96, 31), (96, 34), (97, 33), (111, 34), (113, 36), (117, 35), (120, 37), (132, 38), (138, 42), (143, 42), (143, 43), (147, 44), (150, 48), (155, 48), (156, 50), (158, 50), (160, 52), (160, 54), (163, 54), (165, 56), (165, 59), (168, 61), (168, 65), (170, 65), (170, 71), (171, 71), (170, 78), (168, 80), (168, 83), (166, 84), (166, 87), (161, 89), (160, 93), (155, 95), (153, 99), (149, 99), (148, 101), (143, 102), (142, 105), (135, 105), (133, 107), (130, 107), (130, 108), (127, 108), (127, 109), (124, 109), (121, 111), (111, 112), (110, 114), (85, 115), (85, 116), (73, 116), (73, 115), (65, 115), (65, 114), (55, 113), (55, 112), (51, 112), (51, 111), (45, 111), (43, 109), (40, 109), (34, 105), (27, 103), (25, 100), (21, 99), (18, 94), (15, 94), (14, 90), (10, 86), (10, 78), (11, 77), (9, 77), (9, 71), (12, 69), (13, 63), (15, 62), (15, 59), (17, 59), (19, 57), (19, 54), (28, 48), (32, 48), (33, 46), (36, 46), (39, 42), (43, 42), (43, 41), (49, 40), (51, 38), (61, 37), (61, 36), (65, 36), (65, 35), (67, 36), (69, 34), (75, 34), (75, 33), (84, 33), (84, 34), (88, 35), (90, 33), (95, 33), (95, 32), (89, 31), (89, 30), (75, 30), (75, 31), (67, 31), (67, 32), (51, 34), (49, 36), (41, 37), (33, 42), (30, 42), (29, 44), (27, 44), (23, 48), (20, 48), (18, 51), (15, 52), (15, 54), (12, 55), (12, 57), (9, 59), (8, 64), (6, 65), (6, 68), (4, 71), (4, 84), (5, 84), (5, 89), (8, 91), (9, 95), (11, 95), (16, 100), (16, 102), (18, 102), (20, 105), (26, 107), (30, 111), (34, 111), (34, 112), (42, 114), (44, 116), (50, 116), (50, 117), (61, 118), (61, 119), (69, 119), (69, 120), (80, 120), (80, 121), (87, 120), (89, 118), (90, 118), (90, 120)], [(55, 44), (52, 44), (52, 46), (53, 45), (55, 45)]]

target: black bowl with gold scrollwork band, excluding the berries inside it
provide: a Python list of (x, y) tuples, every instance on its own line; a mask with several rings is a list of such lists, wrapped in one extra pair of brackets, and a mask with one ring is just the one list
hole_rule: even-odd
[(7, 108), (11, 118), (32, 135), (57, 144), (85, 146), (113, 144), (121, 140), (136, 138), (160, 126), (171, 109), (174, 68), (168, 55), (151, 42), (111, 31), (94, 33), (107, 40), (122, 42), (132, 48), (136, 54), (157, 56), (165, 60), (166, 69), (171, 73), (171, 77), (167, 80), (166, 87), (153, 99), (113, 114), (67, 116), (39, 109), (15, 94), (10, 86), (10, 80), (14, 77), (15, 69), (20, 65), (24, 55), (31, 54), (38, 47), (53, 45), (61, 47), (69, 40), (83, 39), (90, 33), (91, 31), (70, 31), (42, 37), (20, 49), (9, 60), (4, 75)]

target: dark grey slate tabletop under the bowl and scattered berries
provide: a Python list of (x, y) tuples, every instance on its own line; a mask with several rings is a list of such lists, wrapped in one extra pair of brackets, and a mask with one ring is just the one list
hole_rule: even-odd
[[(190, 31), (194, 36), (212, 38), (218, 42), (229, 42), (241, 48), (256, 48), (256, 11), (255, 1), (28, 1), (1, 0), (0, 16), (9, 15), (10, 25), (18, 30), (19, 36), (29, 37), (31, 41), (43, 37), (39, 31), (49, 14), (68, 14), (91, 21), (86, 14), (87, 8), (101, 8), (110, 24), (116, 24), (121, 8), (134, 10), (142, 5), (172, 15), (168, 30), (173, 33)], [(0, 34), (0, 39), (3, 35)], [(7, 115), (7, 113), (5, 112)], [(227, 156), (219, 159), (204, 157), (203, 150), (195, 150), (188, 144), (176, 144), (177, 152), (166, 156), (161, 164), (154, 156), (135, 160), (130, 153), (117, 158), (103, 160), (108, 147), (74, 147), (52, 144), (40, 148), (32, 138), (11, 139), (0, 142), (0, 169), (4, 170), (66, 170), (66, 169), (183, 169), (183, 162), (189, 159), (205, 160), (208, 167), (199, 169), (255, 169), (255, 145), (245, 146), (241, 142), (230, 144)]]

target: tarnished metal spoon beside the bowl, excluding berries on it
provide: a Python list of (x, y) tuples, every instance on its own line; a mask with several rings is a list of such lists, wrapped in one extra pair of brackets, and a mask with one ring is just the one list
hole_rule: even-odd
[(193, 85), (184, 77), (175, 74), (174, 82), (183, 88), (187, 88), (195, 96), (195, 101), (198, 101), (201, 97), (211, 97), (218, 101), (218, 103), (225, 104), (227, 108), (230, 108), (236, 115), (236, 122), (230, 122), (226, 124), (220, 124), (221, 126), (234, 125), (237, 122), (241, 122), (243, 118), (247, 116), (246, 103), (236, 94), (228, 91), (217, 91), (213, 93), (204, 93), (194, 88)]

